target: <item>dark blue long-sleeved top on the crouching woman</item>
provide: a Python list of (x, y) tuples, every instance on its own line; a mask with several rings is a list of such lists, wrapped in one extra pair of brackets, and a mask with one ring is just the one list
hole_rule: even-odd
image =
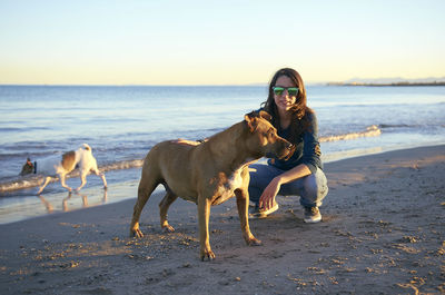
[[(269, 159), (267, 163), (281, 170), (290, 170), (291, 168), (305, 164), (310, 173), (315, 173), (317, 167), (323, 169), (322, 151), (318, 141), (318, 124), (315, 114), (307, 112), (309, 126), (297, 139), (295, 145), (295, 153), (288, 160), (280, 160), (278, 158)], [(277, 128), (278, 135), (286, 140), (290, 141), (290, 126), (286, 129)]]

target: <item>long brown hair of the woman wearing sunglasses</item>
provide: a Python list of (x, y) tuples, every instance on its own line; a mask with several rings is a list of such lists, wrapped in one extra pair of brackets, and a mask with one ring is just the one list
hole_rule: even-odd
[(261, 104), (261, 107), (264, 108), (264, 110), (266, 110), (267, 112), (269, 112), (271, 115), (271, 117), (273, 117), (271, 124), (277, 129), (280, 129), (278, 109), (277, 109), (277, 105), (275, 104), (275, 99), (274, 99), (274, 87), (275, 87), (278, 78), (281, 76), (288, 77), (299, 89), (298, 94), (297, 94), (297, 98), (295, 100), (295, 104), (290, 108), (290, 110), (293, 111), (293, 119), (290, 122), (290, 134), (291, 134), (290, 141), (293, 144), (296, 144), (296, 140), (299, 137), (299, 135), (303, 134), (304, 131), (306, 131), (306, 129), (309, 126), (307, 115), (314, 112), (306, 105), (307, 104), (306, 88), (305, 88), (305, 83), (303, 82), (301, 76), (299, 76), (299, 73), (296, 70), (290, 69), (290, 68), (284, 68), (284, 69), (278, 70), (270, 80), (269, 95), (267, 97), (267, 100)]

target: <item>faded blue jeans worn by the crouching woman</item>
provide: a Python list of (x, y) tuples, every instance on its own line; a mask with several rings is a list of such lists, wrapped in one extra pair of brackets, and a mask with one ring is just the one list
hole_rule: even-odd
[[(263, 190), (276, 176), (286, 170), (278, 169), (270, 165), (254, 164), (249, 166), (250, 183), (249, 198), (256, 205), (259, 203), (259, 197)], [(301, 177), (291, 183), (281, 185), (278, 195), (281, 196), (299, 196), (299, 203), (304, 207), (319, 207), (328, 191), (326, 176), (322, 169), (317, 168), (315, 174)]]

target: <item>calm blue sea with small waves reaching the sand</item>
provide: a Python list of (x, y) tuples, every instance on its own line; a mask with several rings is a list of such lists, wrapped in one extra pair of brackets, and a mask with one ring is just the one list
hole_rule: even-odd
[[(0, 86), (0, 224), (136, 198), (154, 145), (210, 137), (266, 98), (266, 85)], [(307, 100), (318, 118), (324, 163), (445, 144), (443, 86), (309, 85)], [(42, 177), (19, 176), (27, 158), (83, 142), (107, 176), (107, 190), (90, 175), (80, 194), (52, 181), (37, 196)], [(80, 180), (73, 173), (67, 183)]]

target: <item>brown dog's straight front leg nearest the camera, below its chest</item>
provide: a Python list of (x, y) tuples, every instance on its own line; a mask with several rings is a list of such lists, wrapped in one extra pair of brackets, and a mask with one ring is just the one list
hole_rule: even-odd
[(205, 258), (208, 260), (215, 259), (215, 254), (210, 248), (209, 239), (209, 216), (210, 216), (210, 200), (201, 195), (198, 196), (198, 219), (199, 219), (199, 245), (200, 245), (200, 258), (204, 262)]

